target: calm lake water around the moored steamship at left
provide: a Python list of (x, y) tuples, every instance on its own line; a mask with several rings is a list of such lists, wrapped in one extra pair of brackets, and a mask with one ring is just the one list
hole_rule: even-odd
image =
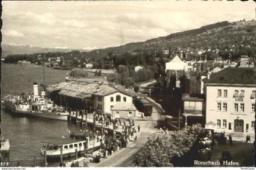
[[(67, 71), (45, 68), (46, 84), (62, 82)], [(43, 83), (43, 68), (34, 65), (1, 66), (1, 97), (6, 94), (32, 93), (33, 82)], [(10, 115), (1, 107), (2, 136), (10, 141), (10, 165), (33, 166), (34, 155), (37, 165), (43, 166), (43, 156), (40, 149), (43, 141), (61, 142), (69, 138), (67, 129), (71, 132), (80, 130), (65, 121), (54, 121), (38, 118), (18, 118)], [(65, 136), (65, 138), (62, 138)], [(70, 140), (70, 139), (69, 139)], [(59, 163), (49, 163), (49, 166), (58, 166)]]

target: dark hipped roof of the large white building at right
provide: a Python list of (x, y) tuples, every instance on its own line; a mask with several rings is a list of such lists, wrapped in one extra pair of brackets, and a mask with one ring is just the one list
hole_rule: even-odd
[(252, 68), (226, 68), (213, 74), (207, 84), (244, 84), (256, 85), (255, 71)]

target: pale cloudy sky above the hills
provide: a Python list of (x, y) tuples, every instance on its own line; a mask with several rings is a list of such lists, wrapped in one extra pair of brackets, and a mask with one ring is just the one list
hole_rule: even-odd
[(2, 1), (2, 43), (107, 48), (256, 19), (255, 7), (254, 1)]

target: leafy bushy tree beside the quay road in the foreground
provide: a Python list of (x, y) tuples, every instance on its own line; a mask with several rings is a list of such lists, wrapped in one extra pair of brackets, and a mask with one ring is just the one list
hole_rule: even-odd
[(143, 167), (174, 166), (177, 159), (190, 151), (201, 132), (201, 125), (196, 124), (191, 127), (185, 126), (175, 133), (154, 133), (135, 155), (134, 163)]

